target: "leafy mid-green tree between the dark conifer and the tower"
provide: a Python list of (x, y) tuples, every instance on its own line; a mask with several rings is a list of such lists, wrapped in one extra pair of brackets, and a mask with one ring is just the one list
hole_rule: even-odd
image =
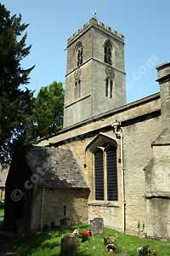
[(64, 89), (62, 83), (54, 81), (42, 87), (35, 99), (33, 113), (33, 137), (48, 137), (62, 128)]

